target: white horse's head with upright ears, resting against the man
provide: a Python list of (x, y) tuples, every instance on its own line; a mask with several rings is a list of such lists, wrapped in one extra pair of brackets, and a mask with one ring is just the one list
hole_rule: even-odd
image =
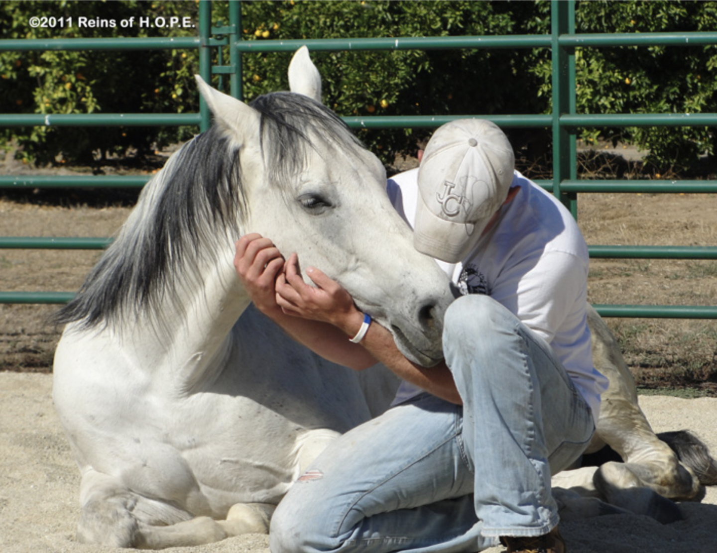
[(305, 48), (295, 54), (290, 82), (291, 93), (246, 105), (199, 80), (216, 124), (239, 152), (247, 206), (240, 228), (325, 271), (391, 330), (404, 355), (435, 364), (452, 300), (447, 276), (414, 249), (386, 195), (379, 159), (317, 101), (320, 77)]

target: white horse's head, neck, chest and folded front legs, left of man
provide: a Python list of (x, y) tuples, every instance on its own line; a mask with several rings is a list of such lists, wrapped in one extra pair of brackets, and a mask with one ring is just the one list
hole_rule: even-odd
[(82, 473), (81, 542), (267, 532), (306, 464), (388, 405), (386, 372), (321, 360), (250, 309), (232, 265), (240, 235), (338, 279), (407, 357), (442, 358), (447, 277), (414, 250), (379, 160), (316, 101), (305, 48), (290, 77), (300, 94), (252, 105), (199, 80), (214, 126), (148, 183), (60, 311), (53, 398)]

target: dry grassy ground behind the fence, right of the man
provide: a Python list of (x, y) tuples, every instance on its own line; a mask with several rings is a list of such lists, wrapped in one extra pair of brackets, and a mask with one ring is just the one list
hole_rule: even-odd
[[(603, 194), (579, 200), (589, 244), (712, 246), (717, 201), (711, 195)], [(593, 259), (593, 303), (716, 305), (717, 261)], [(717, 387), (717, 321), (609, 321), (640, 385)]]

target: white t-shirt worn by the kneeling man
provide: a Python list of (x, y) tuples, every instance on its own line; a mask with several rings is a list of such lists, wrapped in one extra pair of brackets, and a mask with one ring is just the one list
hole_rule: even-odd
[[(418, 169), (389, 179), (394, 208), (414, 226)], [(592, 363), (587, 245), (570, 212), (518, 171), (520, 191), (462, 263), (437, 260), (462, 294), (487, 294), (549, 343), (597, 421), (607, 378)], [(394, 403), (421, 390), (403, 382)]]

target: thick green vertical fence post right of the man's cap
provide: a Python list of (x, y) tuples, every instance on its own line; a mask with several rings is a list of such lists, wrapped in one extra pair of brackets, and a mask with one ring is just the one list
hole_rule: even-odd
[(574, 194), (561, 191), (562, 181), (575, 179), (576, 140), (572, 131), (563, 128), (560, 117), (574, 114), (575, 102), (575, 52), (559, 46), (561, 34), (575, 32), (575, 1), (552, 0), (551, 2), (551, 54), (553, 61), (553, 193), (577, 215), (577, 202)]

